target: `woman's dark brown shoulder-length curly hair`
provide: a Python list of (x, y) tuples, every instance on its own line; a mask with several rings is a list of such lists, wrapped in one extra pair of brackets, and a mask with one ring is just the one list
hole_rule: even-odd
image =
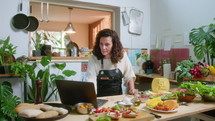
[(113, 47), (111, 50), (111, 62), (113, 64), (118, 63), (123, 58), (123, 46), (122, 46), (122, 43), (120, 42), (120, 39), (117, 33), (111, 29), (103, 29), (98, 32), (98, 34), (96, 35), (96, 43), (93, 47), (93, 54), (97, 57), (98, 60), (101, 60), (104, 58), (104, 55), (102, 55), (101, 49), (99, 46), (100, 39), (102, 37), (112, 38)]

